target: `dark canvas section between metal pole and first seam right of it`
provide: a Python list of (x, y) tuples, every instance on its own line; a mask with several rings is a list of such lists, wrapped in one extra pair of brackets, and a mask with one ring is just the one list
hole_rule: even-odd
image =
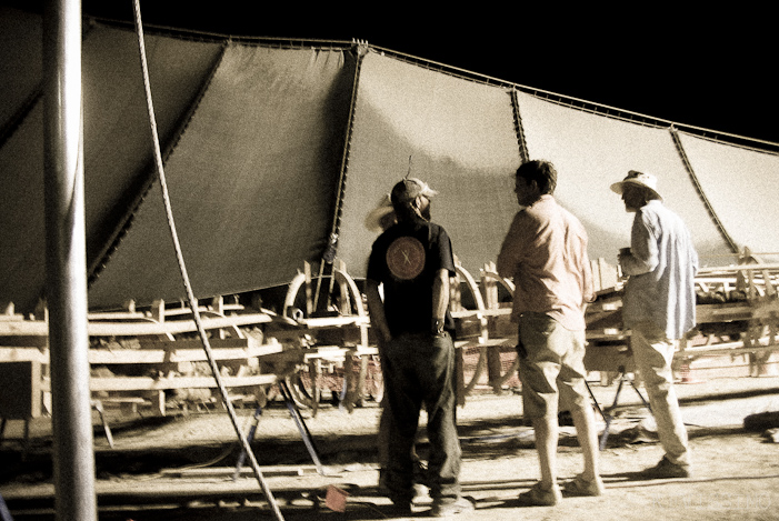
[[(163, 152), (179, 137), (222, 46), (144, 37)], [(90, 265), (102, 259), (156, 176), (138, 37), (97, 26), (83, 41), (84, 197)]]

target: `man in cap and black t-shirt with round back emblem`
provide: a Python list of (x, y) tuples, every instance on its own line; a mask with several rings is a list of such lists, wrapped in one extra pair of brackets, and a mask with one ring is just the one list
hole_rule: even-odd
[[(428, 412), (428, 487), (431, 514), (468, 510), (460, 500), (461, 451), (455, 418), (455, 348), (449, 331), (449, 278), (455, 275), (451, 241), (430, 222), (425, 182), (403, 179), (392, 189), (397, 223), (374, 242), (366, 295), (382, 353), (389, 404), (389, 463), (384, 469), (396, 508), (411, 511), (412, 449), (422, 403)], [(382, 298), (383, 292), (383, 298)], [(470, 507), (472, 508), (472, 507)]]

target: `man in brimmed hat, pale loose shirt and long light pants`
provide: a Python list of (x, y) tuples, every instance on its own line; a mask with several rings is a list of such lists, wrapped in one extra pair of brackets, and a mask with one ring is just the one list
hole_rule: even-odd
[(626, 211), (636, 213), (630, 249), (618, 257), (628, 275), (622, 320), (631, 330), (633, 359), (666, 452), (642, 474), (689, 478), (690, 449), (673, 390), (671, 361), (679, 339), (696, 324), (698, 254), (681, 218), (663, 204), (655, 176), (630, 170), (611, 190), (622, 196)]

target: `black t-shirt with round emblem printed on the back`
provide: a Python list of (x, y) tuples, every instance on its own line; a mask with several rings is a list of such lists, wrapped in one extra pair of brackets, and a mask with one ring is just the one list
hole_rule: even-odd
[[(455, 275), (451, 240), (432, 222), (395, 224), (373, 242), (367, 277), (383, 283), (384, 314), (392, 335), (430, 331), (432, 283), (441, 269)], [(446, 329), (453, 329), (448, 310)]]

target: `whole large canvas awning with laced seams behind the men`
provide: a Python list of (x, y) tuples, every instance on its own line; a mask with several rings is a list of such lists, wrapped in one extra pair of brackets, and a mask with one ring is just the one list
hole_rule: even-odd
[[(136, 34), (84, 23), (89, 304), (184, 298), (160, 189)], [(41, 19), (0, 8), (0, 305), (43, 297)], [(630, 120), (368, 44), (296, 44), (147, 30), (171, 204), (199, 298), (289, 282), (328, 244), (364, 275), (366, 214), (409, 172), (440, 193), (433, 219), (463, 267), (495, 261), (525, 159), (558, 168), (557, 197), (613, 263), (630, 216), (609, 190), (628, 170), (659, 179), (705, 264), (779, 251), (779, 156)], [(767, 256), (767, 260), (779, 258)]]

